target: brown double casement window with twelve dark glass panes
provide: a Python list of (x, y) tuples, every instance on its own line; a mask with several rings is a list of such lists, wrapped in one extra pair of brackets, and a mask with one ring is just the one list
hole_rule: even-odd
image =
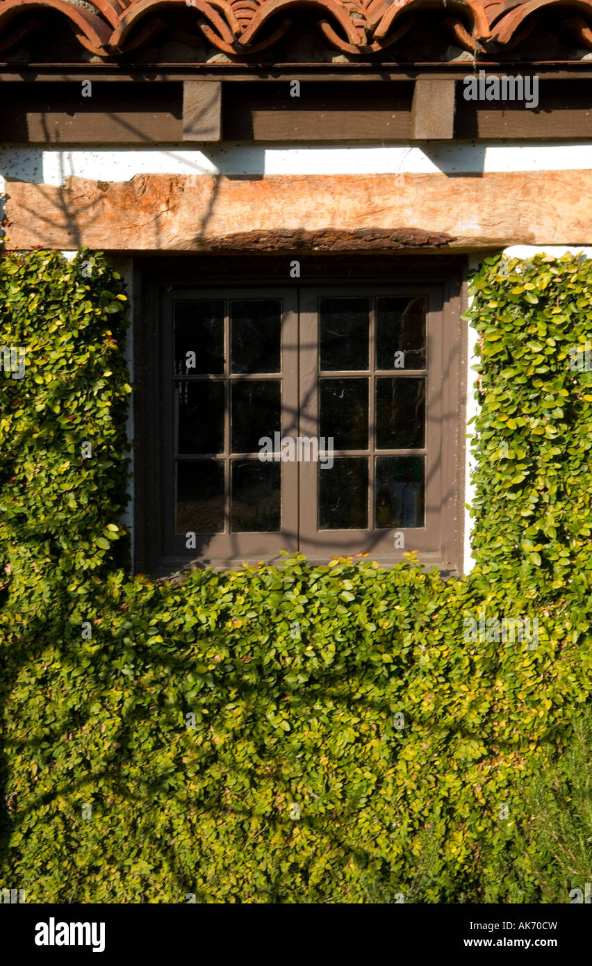
[(163, 287), (156, 357), (142, 340), (155, 498), (136, 486), (136, 501), (150, 569), (281, 551), (387, 565), (412, 550), (458, 567), (462, 340), (450, 302), (418, 280)]

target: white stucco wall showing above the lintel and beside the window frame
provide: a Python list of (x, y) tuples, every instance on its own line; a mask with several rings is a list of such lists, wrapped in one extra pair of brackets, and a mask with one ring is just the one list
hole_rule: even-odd
[[(425, 142), (421, 145), (316, 145), (298, 146), (221, 144), (202, 150), (185, 145), (149, 148), (35, 148), (0, 147), (0, 217), (3, 207), (4, 179), (18, 179), (32, 184), (64, 185), (70, 176), (100, 181), (124, 182), (136, 174), (192, 175), (340, 175), (340, 174), (478, 174), (512, 171), (592, 170), (592, 140), (589, 143), (550, 144), (543, 141), (521, 144), (483, 144), (473, 142)], [(590, 247), (574, 245), (573, 239), (546, 246), (516, 245), (505, 249), (511, 257), (527, 258), (537, 252), (561, 256), (566, 251), (583, 252), (592, 257)], [(73, 253), (66, 253), (67, 257)], [(479, 264), (480, 257), (469, 259), (469, 268)], [(118, 269), (124, 275), (132, 307), (132, 262), (119, 259)], [(132, 343), (127, 343), (127, 361), (131, 367)], [(467, 353), (466, 420), (477, 412), (473, 397), (475, 373), (475, 333), (469, 328)], [(133, 438), (133, 417), (127, 424), (128, 437)], [(466, 428), (467, 437), (473, 433)], [(470, 504), (473, 490), (470, 482), (469, 442), (466, 440), (465, 503)], [(125, 523), (133, 539), (131, 503)], [(470, 550), (470, 517), (465, 511), (464, 568), (473, 566)]]

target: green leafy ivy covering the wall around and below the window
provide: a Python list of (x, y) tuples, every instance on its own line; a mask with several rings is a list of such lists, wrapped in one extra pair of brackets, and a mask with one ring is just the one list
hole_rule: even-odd
[[(1, 261), (0, 345), (28, 363), (0, 376), (1, 887), (528, 901), (541, 867), (562, 874), (524, 847), (523, 791), (570, 742), (592, 676), (592, 394), (567, 361), (590, 334), (592, 268), (502, 264), (486, 260), (468, 313), (468, 578), (296, 555), (172, 585), (127, 576), (120, 279), (84, 251)], [(536, 615), (538, 647), (467, 641), (481, 614)]]

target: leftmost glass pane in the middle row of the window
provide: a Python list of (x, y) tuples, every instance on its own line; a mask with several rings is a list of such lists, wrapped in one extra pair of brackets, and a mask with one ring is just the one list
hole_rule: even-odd
[(177, 383), (175, 425), (178, 453), (223, 453), (224, 383)]

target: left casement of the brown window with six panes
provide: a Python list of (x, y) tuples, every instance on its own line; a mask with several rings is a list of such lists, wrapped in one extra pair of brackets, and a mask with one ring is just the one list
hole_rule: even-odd
[(259, 458), (260, 439), (296, 436), (296, 295), (189, 290), (167, 299), (163, 399), (165, 412), (172, 406), (165, 416), (172, 432), (164, 479), (172, 556), (195, 550), (212, 560), (246, 559), (297, 549), (296, 463)]

